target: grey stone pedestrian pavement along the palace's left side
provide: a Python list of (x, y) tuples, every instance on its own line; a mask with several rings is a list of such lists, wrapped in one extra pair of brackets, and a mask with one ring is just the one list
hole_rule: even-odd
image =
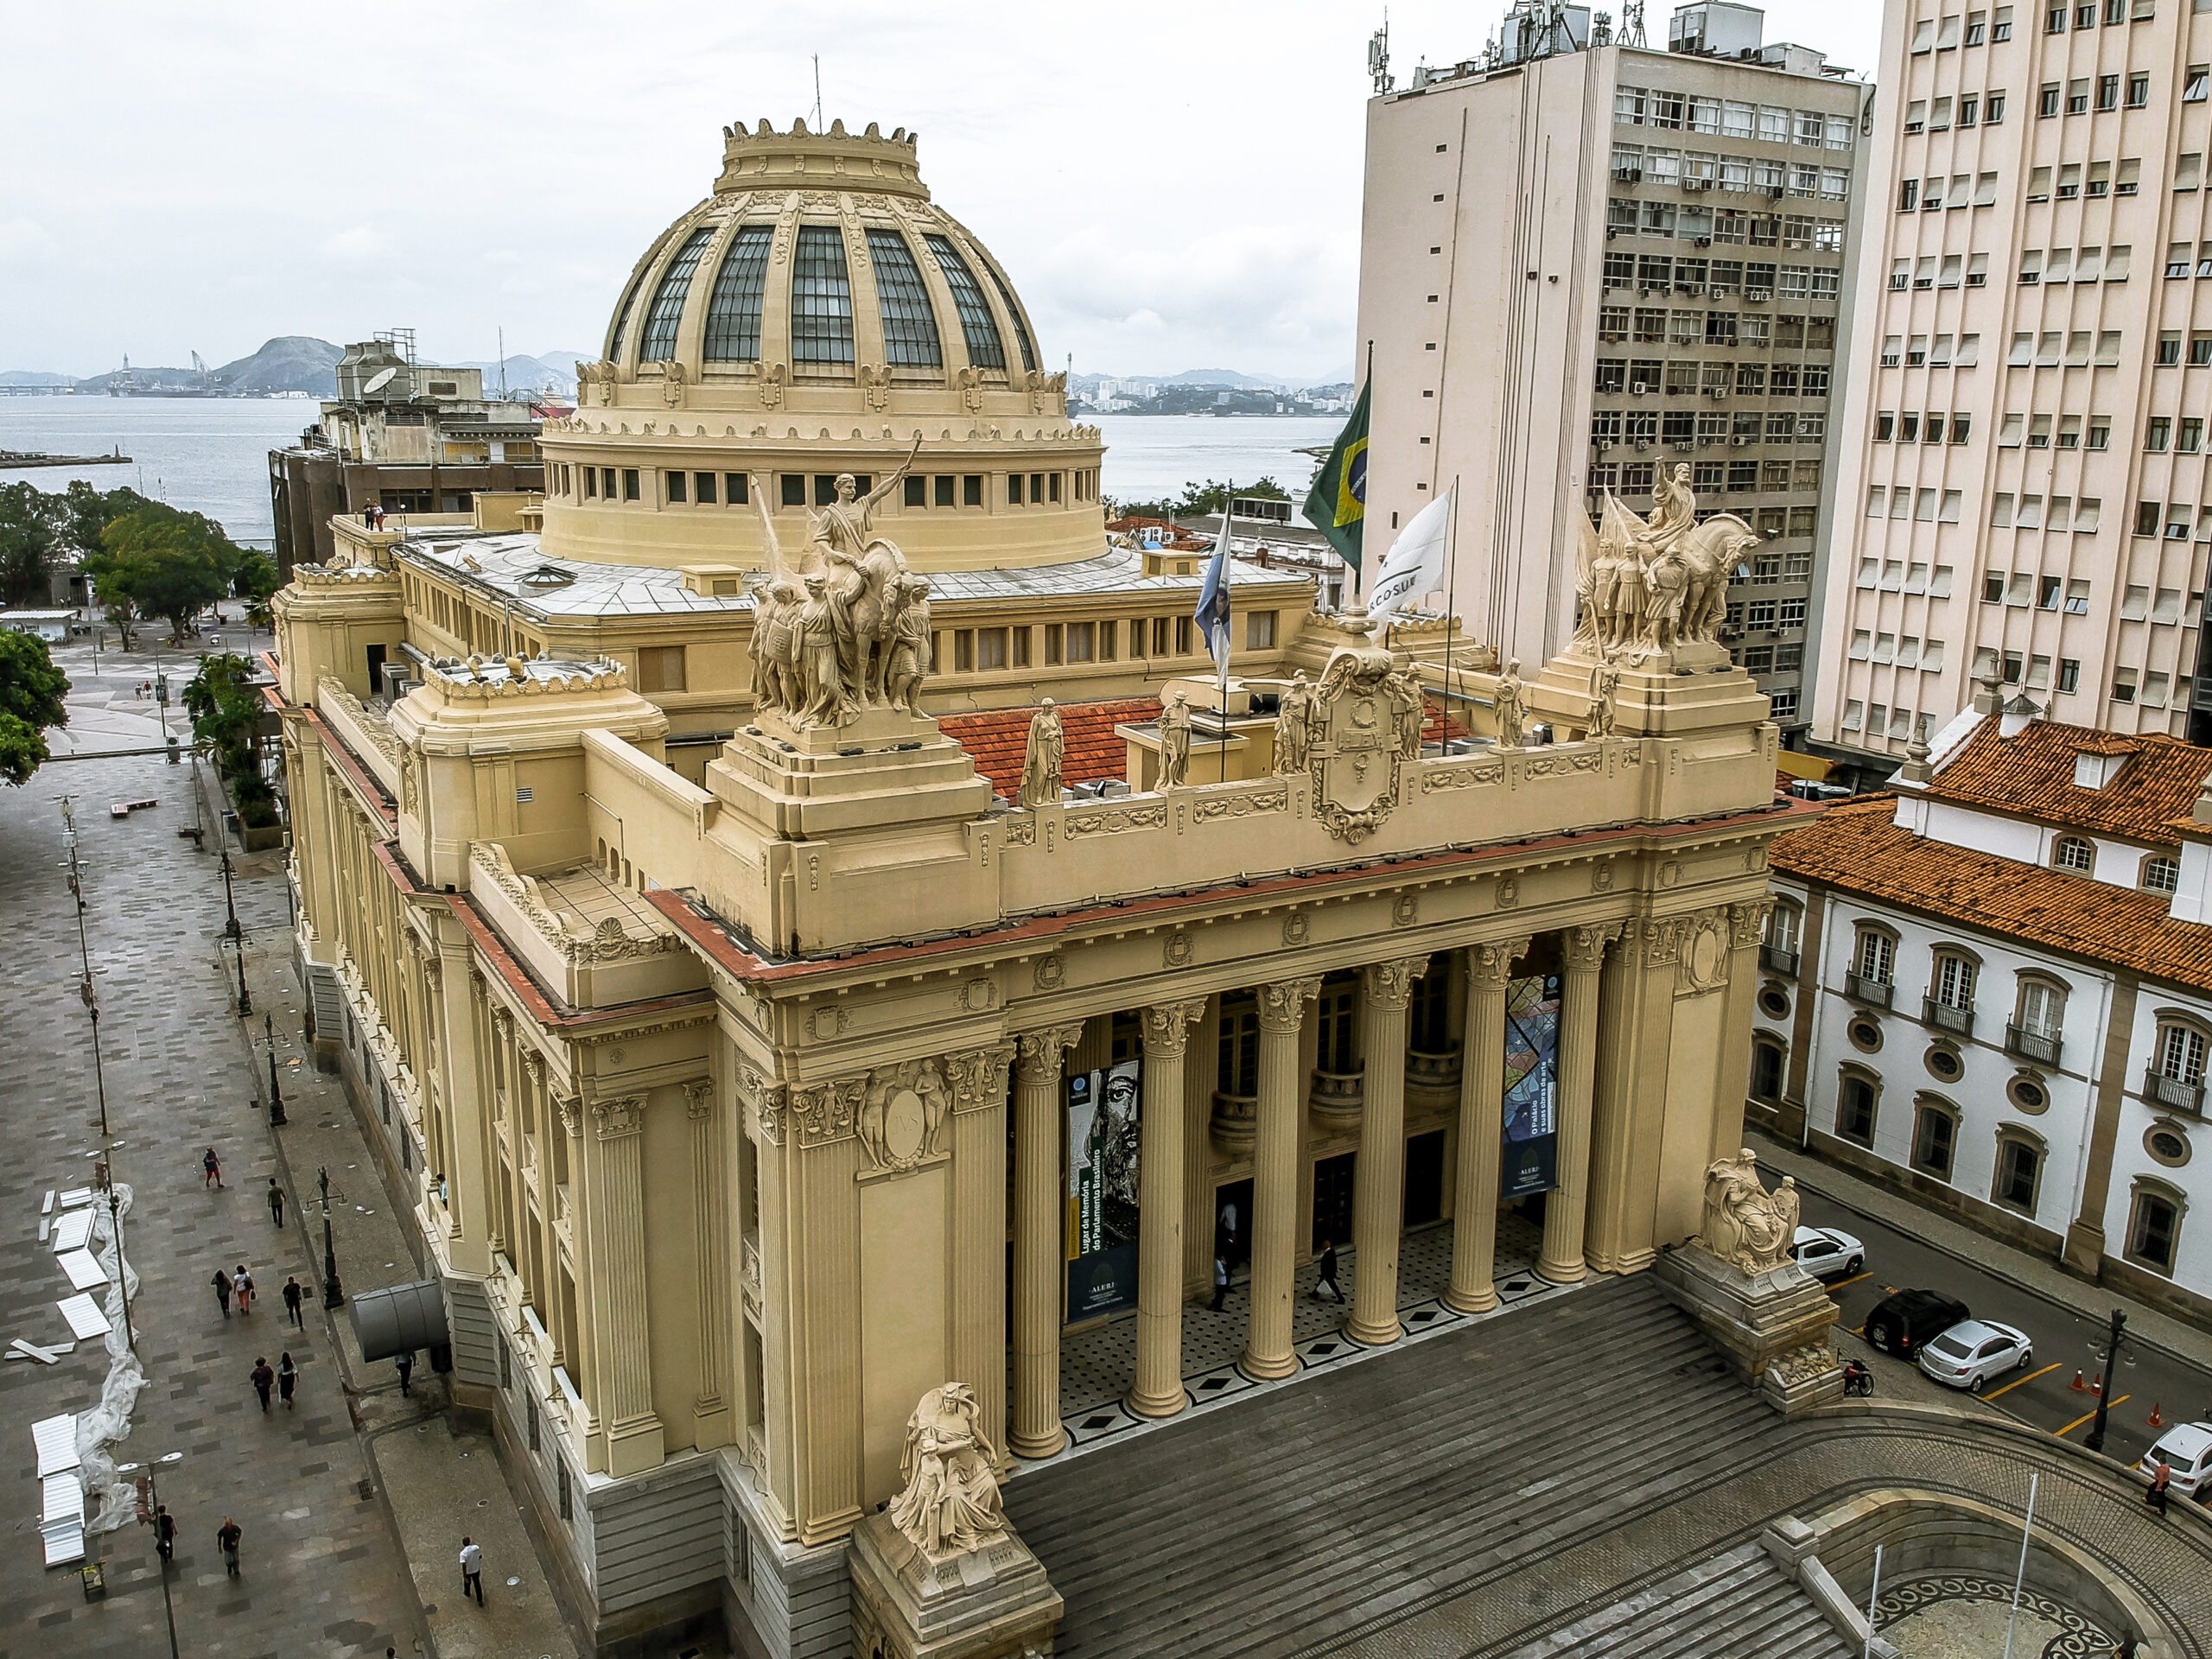
[[(95, 686), (80, 692), (104, 695)], [(316, 1305), (305, 1332), (288, 1332), (274, 1294), (288, 1274), (314, 1283), (319, 1252), (310, 1252), (296, 1208), (292, 1225), (276, 1230), (259, 1192), (276, 1164), (252, 1104), (230, 987), (217, 971), (223, 887), (212, 852), (177, 836), (192, 823), (186, 768), (157, 757), (51, 763), (29, 787), (0, 790), (0, 911), (9, 916), (0, 960), (9, 1035), (0, 1343), (69, 1336), (53, 1307), (69, 1283), (38, 1241), (38, 1212), (46, 1190), (91, 1179), (86, 1152), (97, 1141), (55, 803), (62, 792), (77, 796), (117, 1179), (137, 1194), (124, 1243), (142, 1276), (133, 1323), (148, 1383), (117, 1460), (184, 1453), (157, 1464), (161, 1500), (179, 1520), (170, 1571), (179, 1648), (343, 1657), (383, 1655), (394, 1644), (418, 1652), (405, 1562), (354, 1436), (332, 1329)], [(111, 801), (142, 796), (161, 805), (108, 818)], [(281, 949), (279, 883), (243, 883), (241, 911), (257, 929), (257, 951)], [(223, 1190), (204, 1190), (206, 1146), (223, 1159)], [(241, 1261), (265, 1301), (250, 1318), (223, 1321), (208, 1279), (219, 1263)], [(246, 1374), (259, 1354), (274, 1363), (285, 1347), (301, 1367), (296, 1407), (263, 1416)], [(146, 1528), (91, 1535), (108, 1575), (100, 1601), (84, 1597), (75, 1573), (49, 1571), (40, 1557), (31, 1422), (91, 1407), (104, 1369), (97, 1343), (77, 1345), (53, 1367), (0, 1365), (0, 1489), (15, 1522), (0, 1548), (0, 1659), (139, 1659), (168, 1646)], [(226, 1579), (215, 1546), (223, 1515), (246, 1531), (239, 1579)]]

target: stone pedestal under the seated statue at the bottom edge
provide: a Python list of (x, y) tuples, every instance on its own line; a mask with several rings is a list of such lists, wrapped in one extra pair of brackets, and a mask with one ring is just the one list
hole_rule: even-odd
[(1053, 1652), (1064, 1604), (1044, 1564), (1006, 1537), (931, 1562), (889, 1515), (852, 1533), (854, 1659), (1024, 1659)]

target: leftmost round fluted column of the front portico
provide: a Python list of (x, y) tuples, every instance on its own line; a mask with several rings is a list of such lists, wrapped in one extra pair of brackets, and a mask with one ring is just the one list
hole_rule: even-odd
[(1060, 1062), (1082, 1024), (1020, 1033), (1013, 1060), (1013, 1427), (1022, 1458), (1051, 1458), (1060, 1427), (1060, 1307), (1066, 1281), (1060, 1203)]

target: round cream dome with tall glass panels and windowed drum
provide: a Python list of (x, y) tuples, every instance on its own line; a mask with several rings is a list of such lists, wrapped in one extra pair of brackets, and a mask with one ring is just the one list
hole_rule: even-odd
[(542, 434), (555, 557), (765, 568), (845, 473), (920, 571), (1104, 546), (1097, 427), (905, 128), (723, 128), (714, 192), (637, 261), (577, 383)]

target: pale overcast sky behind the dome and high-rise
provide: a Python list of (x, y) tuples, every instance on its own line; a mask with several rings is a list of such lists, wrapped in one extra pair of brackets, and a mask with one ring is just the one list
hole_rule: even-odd
[[(1615, 7), (1617, 11), (1617, 7)], [(1650, 0), (1663, 44), (1668, 0)], [(1500, 0), (1391, 4), (1391, 66)], [(243, 356), (414, 325), (434, 358), (593, 352), (721, 126), (920, 133), (922, 179), (1077, 372), (1349, 372), (1367, 35), (1383, 7), (11, 4), (0, 369)], [(1869, 69), (1871, 0), (1767, 40)]]

